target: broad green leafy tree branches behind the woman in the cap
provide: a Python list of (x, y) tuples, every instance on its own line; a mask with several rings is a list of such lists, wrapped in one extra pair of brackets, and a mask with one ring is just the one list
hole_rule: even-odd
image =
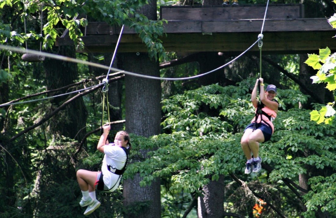
[[(298, 103), (307, 100), (307, 96), (299, 91), (279, 89), (278, 94), (279, 102), (286, 110), (279, 111), (274, 121), (274, 135), (260, 147), (263, 162), (270, 169), (262, 170), (259, 178), (263, 178), (264, 182), (255, 187), (264, 193), (262, 196), (266, 205), (262, 214), (276, 216), (268, 207), (272, 205), (288, 217), (295, 214), (314, 217), (320, 210), (333, 215), (336, 213), (331, 197), (334, 187), (330, 184), (334, 181), (333, 171), (336, 168), (333, 146), (336, 143), (333, 137), (336, 126), (309, 121), (307, 111), (298, 109)], [(140, 173), (143, 178), (141, 186), (161, 177), (169, 181), (166, 193), (171, 192), (171, 196), (177, 191), (202, 195), (204, 185), (230, 173), (253, 180), (254, 175), (248, 177), (243, 174), (245, 157), (240, 148), (241, 132), (254, 112), (249, 99), (247, 85), (242, 82), (238, 87), (213, 84), (163, 100), (166, 119), (162, 125), (166, 133), (150, 139), (135, 137), (136, 149), (151, 149), (154, 145), (158, 149), (149, 152), (150, 158), (143, 162), (129, 165), (127, 176)], [(136, 159), (136, 155), (133, 158)], [(310, 184), (303, 199), (286, 183), (286, 179), (298, 183), (301, 174), (308, 176)], [(227, 180), (228, 183), (233, 181), (232, 178)], [(237, 188), (230, 193), (231, 196), (243, 195), (237, 196), (238, 199), (244, 198), (244, 192), (239, 193)], [(183, 201), (181, 196), (180, 200)], [(238, 211), (240, 207), (235, 206), (235, 201), (224, 204), (227, 205), (226, 211), (242, 213)], [(307, 210), (301, 210), (300, 204), (305, 204)], [(282, 208), (284, 205), (286, 210)]]

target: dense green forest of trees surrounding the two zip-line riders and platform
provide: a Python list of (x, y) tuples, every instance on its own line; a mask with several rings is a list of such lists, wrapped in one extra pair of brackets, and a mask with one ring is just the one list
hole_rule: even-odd
[[(329, 0), (271, 3), (303, 3), (306, 17), (330, 17), (335, 6)], [(131, 26), (149, 50), (118, 53), (114, 66), (123, 70), (187, 77), (234, 58), (217, 52), (165, 52), (160, 41), (164, 21), (157, 11), (160, 5), (173, 4), (210, 3), (1, 0), (0, 42), (109, 66), (112, 54), (76, 53), (82, 46), (79, 26), (99, 20)], [(88, 18), (77, 19), (78, 14)], [(74, 46), (55, 46), (66, 29)], [(21, 56), (1, 50), (0, 104), (95, 86), (107, 73), (50, 58), (25, 62)], [(324, 58), (315, 56), (317, 62), (325, 63), (328, 56), (328, 64), (335, 63), (330, 51)], [(240, 147), (244, 127), (254, 116), (250, 93), (260, 60), (252, 53), (186, 81), (113, 73), (107, 94), (110, 120), (103, 110), (103, 85), (1, 107), (0, 216), (82, 217), (76, 170), (99, 170), (102, 154), (96, 144), (103, 118), (111, 122), (112, 137), (121, 129), (131, 133), (133, 150), (122, 185), (112, 194), (97, 193), (102, 205), (92, 217), (335, 217), (335, 124), (332, 118), (328, 125), (310, 121), (309, 114), (314, 109), (323, 113), (321, 107), (334, 102), (334, 93), (320, 83), (324, 77), (312, 84), (310, 77), (319, 75), (317, 69), (321, 74), (322, 65), (312, 68), (304, 63), (307, 58), (262, 56), (262, 77), (278, 87), (280, 111), (274, 135), (261, 144), (258, 174), (243, 173), (246, 160)]]

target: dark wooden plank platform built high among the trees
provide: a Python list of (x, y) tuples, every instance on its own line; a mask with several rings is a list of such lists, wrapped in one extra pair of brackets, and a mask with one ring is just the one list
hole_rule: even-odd
[[(266, 5), (238, 6), (164, 6), (161, 17), (167, 37), (162, 37), (166, 51), (218, 51), (240, 53), (250, 47), (261, 32)], [(113, 52), (120, 28), (104, 22), (89, 22), (86, 45), (79, 52)], [(336, 31), (327, 18), (304, 18), (301, 4), (269, 5), (263, 29), (263, 54), (317, 53), (327, 46), (336, 50)], [(73, 42), (58, 38), (59, 45)], [(118, 52), (146, 52), (138, 35), (124, 29)], [(258, 51), (254, 46), (251, 52)]]

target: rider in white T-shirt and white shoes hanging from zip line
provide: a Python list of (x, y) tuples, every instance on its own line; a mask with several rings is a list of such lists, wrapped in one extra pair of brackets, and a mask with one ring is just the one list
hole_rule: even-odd
[(77, 171), (77, 181), (82, 190), (83, 197), (80, 206), (88, 206), (84, 215), (91, 214), (100, 206), (96, 199), (95, 189), (104, 192), (113, 192), (119, 186), (123, 172), (125, 171), (131, 143), (126, 131), (117, 132), (114, 143), (108, 141), (110, 125), (103, 126), (97, 149), (104, 153), (101, 172), (80, 169)]

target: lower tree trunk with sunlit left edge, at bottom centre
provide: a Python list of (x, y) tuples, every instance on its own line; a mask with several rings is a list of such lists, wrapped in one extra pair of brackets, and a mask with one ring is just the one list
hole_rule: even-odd
[(224, 217), (224, 176), (220, 175), (218, 181), (210, 181), (203, 187), (204, 196), (198, 197), (198, 218)]

